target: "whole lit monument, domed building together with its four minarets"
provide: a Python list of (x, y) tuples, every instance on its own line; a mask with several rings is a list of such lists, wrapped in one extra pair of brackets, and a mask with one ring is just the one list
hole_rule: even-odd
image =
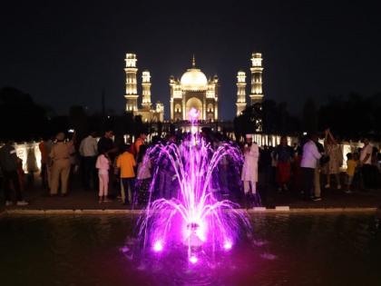
[[(140, 95), (138, 94), (137, 81), (137, 58), (136, 54), (126, 54), (126, 112), (141, 115), (143, 122), (162, 122), (164, 120), (164, 105), (158, 102), (155, 107), (151, 104), (151, 74), (145, 70), (142, 72), (142, 107), (138, 105)], [(251, 83), (249, 93), (249, 104), (257, 104), (263, 101), (262, 91), (262, 54), (251, 54)], [(237, 74), (237, 112), (239, 115), (247, 106), (246, 99), (246, 73), (239, 71)], [(219, 120), (219, 78), (214, 75), (206, 77), (200, 68), (196, 67), (193, 56), (192, 66), (181, 79), (170, 77), (171, 98), (171, 121), (188, 120), (190, 109), (194, 108), (199, 114), (199, 120), (216, 122)]]

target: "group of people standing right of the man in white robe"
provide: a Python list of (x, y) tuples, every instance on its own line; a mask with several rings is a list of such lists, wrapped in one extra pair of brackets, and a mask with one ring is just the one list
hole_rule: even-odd
[(345, 154), (346, 170), (341, 168), (344, 163), (341, 146), (329, 129), (322, 134), (311, 133), (294, 146), (289, 146), (287, 137), (283, 136), (278, 146), (265, 148), (262, 155), (271, 162), (270, 182), (275, 183), (278, 192), (291, 187), (305, 200), (321, 201), (322, 185), (326, 190), (335, 187), (346, 193), (380, 186), (380, 153), (367, 138), (363, 143), (362, 148)]

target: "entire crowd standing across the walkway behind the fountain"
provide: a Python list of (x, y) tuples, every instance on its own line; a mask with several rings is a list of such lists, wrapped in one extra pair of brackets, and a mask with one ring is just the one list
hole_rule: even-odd
[[(100, 139), (96, 133), (89, 133), (80, 142), (75, 134), (71, 138), (66, 138), (65, 133), (58, 133), (53, 139), (44, 138), (39, 149), (45, 194), (66, 196), (73, 191), (74, 178), (80, 177), (84, 190), (97, 192), (99, 203), (119, 200), (135, 207), (146, 204), (150, 196), (171, 199), (179, 189), (172, 162), (168, 156), (147, 153), (147, 150), (156, 144), (179, 145), (186, 136), (187, 133), (166, 138), (156, 136), (150, 144), (146, 143), (146, 133), (140, 133), (133, 143), (125, 143), (123, 137), (114, 138), (112, 130), (103, 133)], [(210, 131), (203, 131), (201, 136), (214, 149), (229, 141), (222, 134)], [(243, 143), (230, 142), (240, 149), (242, 163), (229, 157), (220, 160), (218, 172), (213, 175), (212, 190), (219, 199), (229, 198), (251, 207), (260, 205), (261, 196), (271, 190), (290, 191), (308, 201), (321, 201), (322, 186), (327, 190), (335, 186), (346, 193), (354, 189), (376, 189), (380, 153), (367, 139), (363, 142), (361, 149), (346, 154), (347, 170), (343, 175), (343, 152), (329, 129), (322, 135), (311, 133), (292, 146), (283, 136), (276, 147), (259, 147), (247, 134)], [(11, 141), (0, 149), (0, 168), (5, 205), (14, 202), (26, 205), (20, 182), (20, 159)], [(320, 185), (321, 182), (324, 183)], [(15, 200), (11, 198), (12, 190)]]

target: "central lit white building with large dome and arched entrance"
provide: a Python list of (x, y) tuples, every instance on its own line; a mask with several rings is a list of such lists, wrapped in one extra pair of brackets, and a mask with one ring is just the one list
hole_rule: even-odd
[(210, 122), (219, 118), (218, 87), (219, 78), (206, 75), (196, 68), (193, 56), (192, 67), (181, 76), (181, 80), (170, 77), (171, 87), (171, 121), (188, 120), (190, 109), (199, 113), (199, 120)]

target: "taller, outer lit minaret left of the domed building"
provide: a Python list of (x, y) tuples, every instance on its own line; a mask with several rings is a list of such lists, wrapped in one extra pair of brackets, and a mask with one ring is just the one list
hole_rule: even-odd
[(133, 112), (138, 110), (138, 84), (136, 81), (136, 54), (126, 54), (125, 62), (126, 67), (126, 94), (124, 97), (127, 100), (126, 112)]

